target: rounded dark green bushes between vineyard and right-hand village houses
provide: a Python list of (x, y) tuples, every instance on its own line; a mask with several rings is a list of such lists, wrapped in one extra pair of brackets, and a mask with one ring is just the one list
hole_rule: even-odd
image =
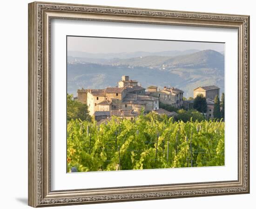
[(192, 118), (192, 121), (203, 121), (205, 120), (205, 117), (204, 115), (201, 113), (201, 112), (198, 112), (196, 110), (179, 110), (178, 112), (178, 115), (175, 116), (175, 119), (178, 121), (178, 120), (182, 120), (183, 122), (188, 122), (188, 121), (191, 121), (191, 118)]

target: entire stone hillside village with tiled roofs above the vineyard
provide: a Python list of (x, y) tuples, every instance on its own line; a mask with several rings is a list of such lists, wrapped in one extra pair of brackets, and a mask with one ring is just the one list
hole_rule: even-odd
[[(168, 117), (175, 116), (176, 112), (169, 112), (160, 107), (160, 104), (171, 105), (177, 109), (193, 108), (193, 100), (183, 101), (184, 91), (175, 87), (165, 86), (159, 89), (150, 85), (143, 88), (138, 81), (123, 75), (115, 87), (105, 89), (78, 89), (77, 99), (88, 105), (89, 114), (96, 121), (101, 121), (112, 116), (133, 120), (142, 109), (146, 113), (154, 111), (157, 114), (165, 114)], [(219, 96), (220, 89), (217, 86), (204, 86), (194, 89), (194, 98), (202, 94), (207, 101), (207, 118), (213, 118), (214, 98)]]

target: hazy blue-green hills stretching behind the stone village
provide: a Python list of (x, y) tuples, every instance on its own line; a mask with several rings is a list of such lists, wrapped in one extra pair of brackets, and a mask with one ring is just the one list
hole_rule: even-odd
[(129, 75), (144, 88), (149, 85), (175, 86), (185, 91), (185, 97), (193, 97), (193, 89), (198, 86), (216, 85), (224, 91), (224, 56), (213, 50), (175, 57), (84, 58), (68, 63), (67, 69), (67, 92), (74, 95), (81, 87), (116, 86), (122, 75)]

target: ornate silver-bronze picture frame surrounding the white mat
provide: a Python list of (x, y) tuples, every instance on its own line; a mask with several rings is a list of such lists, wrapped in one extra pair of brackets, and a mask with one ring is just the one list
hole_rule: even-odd
[[(51, 21), (238, 30), (238, 179), (100, 189), (51, 189)], [(28, 4), (28, 204), (32, 207), (249, 193), (249, 16), (33, 2)]]

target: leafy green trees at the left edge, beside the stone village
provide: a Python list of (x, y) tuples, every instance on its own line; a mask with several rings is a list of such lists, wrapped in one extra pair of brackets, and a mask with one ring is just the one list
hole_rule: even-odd
[(67, 94), (67, 121), (71, 119), (91, 120), (88, 114), (87, 104), (82, 104), (77, 100), (73, 100), (72, 94)]

